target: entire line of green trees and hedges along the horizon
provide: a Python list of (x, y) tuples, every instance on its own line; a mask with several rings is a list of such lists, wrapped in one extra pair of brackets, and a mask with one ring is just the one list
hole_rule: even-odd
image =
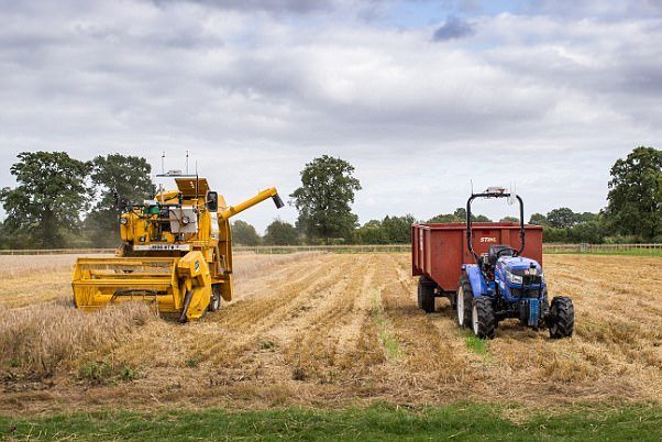
[[(0, 247), (112, 247), (119, 242), (118, 220), (128, 202), (155, 192), (145, 158), (110, 154), (82, 162), (64, 152), (24, 152), (10, 168), (18, 186), (0, 190), (7, 218), (0, 224)], [(411, 224), (465, 222), (457, 208), (428, 220), (412, 214), (387, 216), (358, 223), (352, 203), (361, 183), (354, 167), (323, 155), (306, 164), (301, 184), (290, 194), (298, 211), (291, 224), (274, 220), (260, 235), (245, 221), (232, 223), (242, 245), (406, 244)], [(662, 151), (640, 146), (610, 169), (607, 206), (598, 213), (570, 208), (533, 213), (530, 224), (542, 225), (545, 242), (662, 242)], [(476, 222), (492, 222), (473, 214)], [(498, 221), (519, 222), (506, 217)]]

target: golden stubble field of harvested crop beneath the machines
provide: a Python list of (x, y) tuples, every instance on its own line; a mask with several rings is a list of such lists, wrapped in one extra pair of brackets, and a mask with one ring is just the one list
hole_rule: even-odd
[(73, 309), (70, 256), (0, 257), (0, 409), (662, 397), (662, 258), (545, 256), (550, 295), (574, 298), (575, 336), (506, 321), (489, 342), (459, 330), (446, 300), (417, 309), (409, 259), (241, 255), (235, 300), (181, 325), (143, 305)]

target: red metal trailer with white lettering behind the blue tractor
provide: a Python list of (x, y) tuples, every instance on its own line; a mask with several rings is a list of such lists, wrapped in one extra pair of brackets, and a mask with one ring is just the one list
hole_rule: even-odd
[[(473, 246), (477, 254), (490, 245), (521, 245), (520, 225), (516, 222), (473, 222)], [(542, 226), (527, 225), (523, 256), (542, 265)], [(413, 276), (423, 276), (433, 285), (435, 295), (448, 296), (457, 290), (463, 264), (475, 264), (466, 244), (465, 223), (423, 223), (411, 226), (411, 267)]]

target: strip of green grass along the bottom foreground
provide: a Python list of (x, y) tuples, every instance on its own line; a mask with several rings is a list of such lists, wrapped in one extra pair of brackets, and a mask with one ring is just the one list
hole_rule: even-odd
[(540, 411), (515, 423), (506, 406), (455, 404), (411, 409), (389, 405), (366, 409), (231, 412), (158, 410), (106, 411), (45, 418), (0, 417), (0, 438), (13, 440), (495, 440), (495, 441), (659, 441), (658, 405), (573, 406), (563, 413)]

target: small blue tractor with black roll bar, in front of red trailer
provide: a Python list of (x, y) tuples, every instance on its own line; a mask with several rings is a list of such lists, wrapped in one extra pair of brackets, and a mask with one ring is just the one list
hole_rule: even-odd
[[(520, 245), (495, 244), (488, 253), (478, 255), (472, 245), (472, 202), (476, 198), (509, 198), (519, 202)], [(464, 264), (454, 299), (457, 324), (471, 328), (481, 339), (493, 339), (499, 321), (519, 319), (522, 325), (547, 328), (550, 338), (572, 336), (574, 307), (572, 299), (558, 296), (548, 301), (548, 289), (542, 266), (534, 259), (521, 256), (525, 250), (525, 209), (518, 195), (511, 196), (503, 188), (488, 188), (472, 194), (466, 201), (466, 243), (476, 264)]]

